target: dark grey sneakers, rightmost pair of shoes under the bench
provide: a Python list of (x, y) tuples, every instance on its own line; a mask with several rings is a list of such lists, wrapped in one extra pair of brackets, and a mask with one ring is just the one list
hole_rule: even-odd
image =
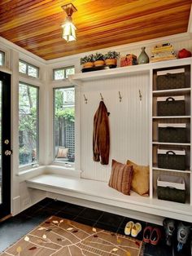
[(177, 251), (181, 251), (190, 235), (190, 224), (180, 222), (177, 225), (176, 221), (171, 218), (165, 218), (163, 223), (166, 235), (166, 244), (168, 246), (172, 245), (172, 236), (177, 232)]

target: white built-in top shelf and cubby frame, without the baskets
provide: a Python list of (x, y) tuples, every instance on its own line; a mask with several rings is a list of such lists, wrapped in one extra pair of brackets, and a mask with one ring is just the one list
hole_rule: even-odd
[[(190, 183), (192, 182), (192, 172), (191, 172), (191, 64), (192, 58), (186, 58), (181, 60), (169, 60), (169, 61), (162, 61), (153, 64), (142, 64), (124, 68), (113, 68), (109, 70), (102, 70), (90, 73), (78, 73), (73, 75), (70, 79), (71, 82), (77, 85), (83, 85), (84, 82), (87, 81), (94, 81), (97, 79), (107, 79), (111, 77), (127, 77), (129, 75), (136, 76), (137, 73), (148, 73), (150, 77), (150, 84), (151, 86), (149, 90), (149, 102), (151, 103), (151, 121), (150, 121), (150, 166), (151, 166), (151, 174), (150, 174), (150, 182), (151, 182), (151, 189), (150, 189), (150, 198), (155, 201), (159, 201), (159, 204), (162, 203), (170, 204), (170, 201), (162, 201), (157, 199), (157, 192), (156, 192), (156, 179), (159, 174), (176, 174), (185, 177), (186, 181), (186, 190), (187, 196), (185, 205), (181, 204), (182, 207), (185, 208), (186, 205), (189, 207), (189, 204), (192, 205), (192, 196), (191, 192), (192, 189)], [(178, 68), (185, 68), (186, 73), (186, 83), (184, 88), (174, 88), (170, 90), (157, 90), (156, 87), (156, 73), (159, 70), (170, 70), (170, 69), (178, 69)], [(157, 99), (159, 97), (168, 97), (168, 96), (185, 96), (185, 115), (177, 115), (177, 116), (159, 116), (157, 114)], [(174, 143), (174, 142), (160, 142), (158, 139), (158, 124), (165, 124), (165, 123), (181, 123), (186, 124), (187, 126), (187, 138), (188, 141), (182, 143)], [(185, 149), (186, 152), (186, 170), (174, 170), (174, 169), (162, 169), (158, 167), (157, 162), (157, 150), (158, 148), (175, 148), (176, 150), (182, 148)], [(171, 202), (174, 205), (174, 202)], [(175, 203), (178, 205), (178, 203)], [(192, 219), (192, 216), (191, 216)]]

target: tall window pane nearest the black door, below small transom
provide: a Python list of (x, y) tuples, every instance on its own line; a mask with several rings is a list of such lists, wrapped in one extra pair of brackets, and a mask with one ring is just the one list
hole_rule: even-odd
[(19, 85), (19, 158), (20, 166), (38, 161), (38, 87)]

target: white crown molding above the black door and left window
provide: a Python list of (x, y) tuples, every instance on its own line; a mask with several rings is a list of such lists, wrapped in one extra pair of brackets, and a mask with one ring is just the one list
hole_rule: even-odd
[(17, 46), (15, 43), (8, 41), (6, 38), (0, 37), (0, 46), (2, 47), (10, 47), (11, 50), (19, 51), (20, 54), (27, 55), (29, 58), (32, 58), (33, 60), (37, 60), (41, 62), (41, 64), (46, 64), (46, 60), (42, 59), (41, 57), (34, 55), (32, 52), (24, 50), (22, 47)]

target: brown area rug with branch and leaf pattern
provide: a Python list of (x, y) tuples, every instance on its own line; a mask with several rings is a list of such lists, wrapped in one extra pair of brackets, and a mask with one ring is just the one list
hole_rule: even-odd
[(52, 216), (0, 255), (138, 256), (141, 252), (141, 241)]

